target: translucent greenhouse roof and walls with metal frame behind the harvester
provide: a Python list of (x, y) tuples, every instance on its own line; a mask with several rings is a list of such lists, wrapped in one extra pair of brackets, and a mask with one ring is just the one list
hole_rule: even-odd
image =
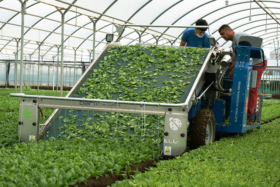
[[(209, 23), (213, 37), (224, 47), (230, 47), (230, 42), (221, 39), (217, 32), (223, 24), (230, 25), (234, 31), (263, 38), (269, 70), (264, 73), (262, 84), (265, 92), (277, 92), (279, 89), (274, 89), (272, 84), (279, 85), (279, 71), (274, 67), (278, 67), (279, 60), (280, 2), (196, 2), (0, 0), (0, 83), (6, 87), (15, 83), (20, 86), (21, 82), (23, 86), (71, 87), (105, 46), (106, 34), (118, 36), (116, 26), (125, 23), (194, 25), (197, 19), (203, 18)], [(129, 27), (121, 43), (179, 45), (184, 30)]]

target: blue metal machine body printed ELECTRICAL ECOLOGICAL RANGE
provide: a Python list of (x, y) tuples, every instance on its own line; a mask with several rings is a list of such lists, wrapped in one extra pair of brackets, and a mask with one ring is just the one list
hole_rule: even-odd
[[(213, 105), (217, 132), (243, 133), (249, 129), (260, 127), (259, 122), (253, 125), (246, 125), (252, 68), (253, 66), (263, 67), (265, 65), (264, 57), (262, 57), (263, 66), (252, 65), (250, 58), (260, 58), (260, 51), (264, 53), (263, 50), (258, 47), (235, 47), (236, 62), (232, 79), (232, 95), (231, 97), (224, 96), (224, 103), (215, 100)], [(227, 87), (230, 87), (230, 83), (231, 81), (226, 81)], [(224, 108), (225, 119), (229, 117), (228, 126), (218, 125), (223, 122), (221, 121), (223, 119), (221, 119), (221, 117), (222, 115), (224, 116)]]

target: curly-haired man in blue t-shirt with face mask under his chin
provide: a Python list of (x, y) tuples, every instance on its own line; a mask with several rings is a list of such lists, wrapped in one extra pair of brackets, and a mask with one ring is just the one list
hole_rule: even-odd
[[(208, 23), (206, 20), (199, 19), (195, 22), (195, 25), (208, 26)], [(208, 41), (209, 35), (206, 33), (206, 30), (205, 28), (190, 28), (185, 30), (181, 37), (180, 46), (210, 48)]]

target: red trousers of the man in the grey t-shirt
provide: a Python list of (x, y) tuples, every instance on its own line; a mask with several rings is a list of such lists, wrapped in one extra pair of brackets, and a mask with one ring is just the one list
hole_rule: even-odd
[[(256, 65), (263, 65), (263, 62), (258, 63)], [(264, 67), (253, 67), (253, 70), (257, 70), (258, 74), (257, 74), (256, 87), (251, 88), (249, 91), (248, 113), (247, 113), (247, 117), (249, 117), (249, 118), (253, 117), (253, 112), (254, 112), (254, 109), (255, 109), (255, 107), (257, 105), (257, 101), (258, 101), (258, 91), (259, 91), (260, 80), (262, 79), (262, 73), (266, 67), (267, 67), (267, 60), (265, 60)]]

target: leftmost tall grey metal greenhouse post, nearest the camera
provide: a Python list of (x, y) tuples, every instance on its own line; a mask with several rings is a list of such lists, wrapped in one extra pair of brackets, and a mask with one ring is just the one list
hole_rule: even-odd
[(24, 37), (24, 14), (27, 0), (19, 0), (21, 3), (21, 41), (20, 41), (20, 93), (22, 93), (22, 75), (23, 75), (23, 37)]

